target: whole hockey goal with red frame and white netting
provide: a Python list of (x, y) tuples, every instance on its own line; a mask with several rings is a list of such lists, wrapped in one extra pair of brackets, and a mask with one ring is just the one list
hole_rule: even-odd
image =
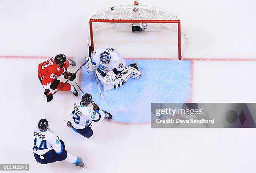
[(161, 27), (177, 32), (178, 57), (187, 45), (187, 37), (181, 30), (179, 17), (169, 10), (143, 5), (121, 5), (105, 8), (90, 18), (90, 41), (94, 50), (93, 36), (99, 31), (115, 27), (118, 31), (161, 31)]

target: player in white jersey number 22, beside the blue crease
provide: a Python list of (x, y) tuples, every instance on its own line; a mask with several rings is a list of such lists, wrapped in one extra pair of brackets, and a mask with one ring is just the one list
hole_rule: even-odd
[(67, 126), (84, 137), (91, 137), (93, 134), (90, 127), (92, 122), (98, 122), (105, 117), (112, 119), (112, 115), (105, 110), (100, 110), (97, 104), (93, 103), (92, 95), (85, 93), (82, 98), (78, 98), (74, 104), (74, 110), (71, 114), (71, 121)]

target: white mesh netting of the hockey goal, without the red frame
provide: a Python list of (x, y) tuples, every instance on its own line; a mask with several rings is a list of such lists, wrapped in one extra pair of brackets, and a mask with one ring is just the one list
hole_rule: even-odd
[[(99, 20), (119, 20), (118, 23), (122, 23), (122, 20), (154, 20), (154, 22), (161, 23), (161, 20), (179, 20), (179, 17), (169, 10), (162, 8), (151, 7), (151, 6), (135, 6), (135, 5), (121, 5), (105, 8), (98, 11), (90, 19)], [(93, 22), (92, 31), (93, 35), (97, 34), (99, 31), (104, 31), (108, 28), (115, 27), (115, 22), (105, 23), (105, 22)], [(161, 26), (168, 28), (172, 31), (177, 30), (177, 23), (161, 23)], [(90, 39), (89, 39), (90, 40)], [(184, 53), (187, 46), (187, 36), (181, 31), (181, 51)]]

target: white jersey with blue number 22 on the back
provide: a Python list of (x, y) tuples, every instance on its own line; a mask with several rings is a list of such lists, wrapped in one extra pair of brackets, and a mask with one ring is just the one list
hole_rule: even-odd
[(90, 125), (92, 121), (103, 120), (105, 115), (100, 115), (99, 111), (92, 109), (92, 103), (88, 106), (81, 104), (82, 99), (78, 98), (74, 104), (74, 110), (71, 114), (71, 124), (75, 129), (83, 129)]

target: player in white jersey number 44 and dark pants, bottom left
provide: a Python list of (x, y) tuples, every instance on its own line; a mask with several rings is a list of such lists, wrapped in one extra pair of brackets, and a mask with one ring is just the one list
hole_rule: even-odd
[(37, 162), (47, 164), (67, 160), (69, 163), (84, 168), (82, 158), (76, 157), (65, 150), (64, 142), (53, 131), (49, 130), (49, 124), (46, 119), (41, 119), (38, 122), (33, 136), (33, 153)]

